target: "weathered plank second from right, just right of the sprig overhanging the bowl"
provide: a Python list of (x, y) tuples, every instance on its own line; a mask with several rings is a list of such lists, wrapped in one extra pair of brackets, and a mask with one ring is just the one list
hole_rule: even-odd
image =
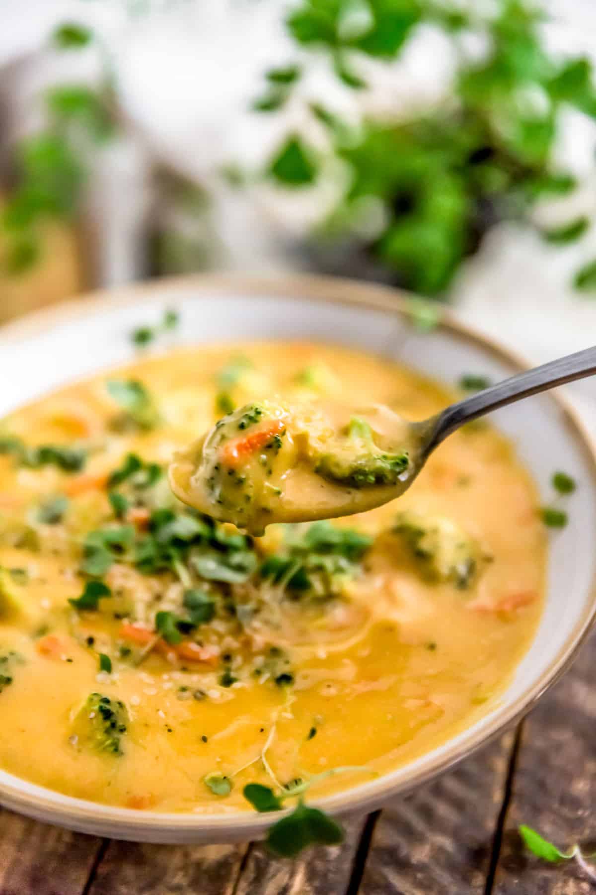
[(512, 743), (513, 734), (507, 734), (384, 808), (360, 895), (483, 892)]

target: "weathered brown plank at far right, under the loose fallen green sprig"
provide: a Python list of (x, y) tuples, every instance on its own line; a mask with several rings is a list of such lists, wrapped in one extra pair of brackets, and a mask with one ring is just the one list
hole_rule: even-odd
[(516, 831), (527, 823), (561, 848), (596, 839), (595, 661), (592, 635), (573, 669), (525, 720), (495, 895), (594, 891), (576, 865), (549, 865), (524, 853)]

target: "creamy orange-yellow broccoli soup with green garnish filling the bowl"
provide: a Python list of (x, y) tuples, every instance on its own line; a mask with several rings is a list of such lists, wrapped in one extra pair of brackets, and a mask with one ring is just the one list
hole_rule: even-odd
[(344, 765), (389, 771), (487, 712), (541, 613), (537, 494), (486, 424), (399, 500), (252, 539), (183, 506), (164, 470), (253, 400), (348, 398), (407, 419), (444, 389), (303, 343), (141, 357), (0, 429), (0, 765), (76, 797), (248, 808)]

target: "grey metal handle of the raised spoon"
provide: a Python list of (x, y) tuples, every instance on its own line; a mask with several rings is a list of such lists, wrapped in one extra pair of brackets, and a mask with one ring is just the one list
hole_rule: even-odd
[(471, 422), (484, 413), (491, 413), (492, 410), (512, 404), (523, 397), (536, 395), (548, 388), (573, 382), (574, 379), (583, 379), (594, 373), (596, 373), (596, 345), (584, 348), (575, 354), (567, 354), (567, 357), (559, 357), (556, 361), (543, 363), (541, 367), (534, 367), (533, 370), (516, 373), (516, 376), (511, 376), (509, 379), (503, 379), (490, 388), (484, 388), (483, 391), (446, 407), (435, 417), (428, 451), (430, 452), (465, 422)]

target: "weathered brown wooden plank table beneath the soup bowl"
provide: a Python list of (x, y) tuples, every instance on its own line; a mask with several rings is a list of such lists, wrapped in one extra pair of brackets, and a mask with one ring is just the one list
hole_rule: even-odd
[(529, 823), (558, 846), (592, 843), (596, 632), (519, 727), (296, 861), (260, 845), (101, 840), (0, 810), (0, 895), (580, 895), (575, 865), (528, 856)]

